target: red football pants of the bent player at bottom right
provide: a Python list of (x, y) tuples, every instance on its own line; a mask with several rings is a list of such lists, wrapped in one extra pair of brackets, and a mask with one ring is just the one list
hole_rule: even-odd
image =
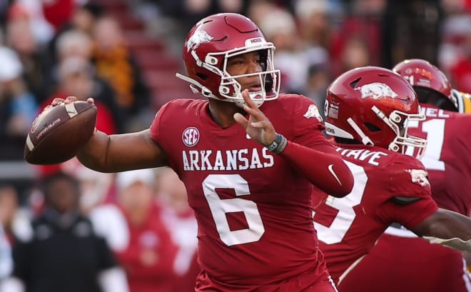
[(338, 285), (340, 292), (471, 292), (460, 251), (422, 238), (383, 234)]

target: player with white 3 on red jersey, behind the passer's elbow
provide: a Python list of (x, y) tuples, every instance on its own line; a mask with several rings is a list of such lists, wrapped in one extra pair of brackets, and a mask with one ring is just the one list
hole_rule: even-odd
[[(347, 291), (343, 278), (393, 222), (434, 241), (461, 238), (467, 242), (450, 245), (471, 250), (471, 218), (438, 208), (424, 166), (403, 154), (408, 147), (424, 150), (425, 139), (407, 134), (421, 119), (412, 86), (388, 69), (353, 69), (328, 89), (325, 128), (355, 178), (348, 196), (329, 196), (314, 210), (320, 249), (339, 291)], [(364, 281), (374, 279), (367, 274)]]

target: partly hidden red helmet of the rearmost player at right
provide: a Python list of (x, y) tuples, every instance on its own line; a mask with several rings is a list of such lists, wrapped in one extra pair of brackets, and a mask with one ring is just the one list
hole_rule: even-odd
[(452, 95), (450, 81), (430, 62), (422, 59), (404, 60), (394, 66), (393, 71), (409, 81), (417, 92), (419, 102), (450, 111), (457, 110), (457, 99)]

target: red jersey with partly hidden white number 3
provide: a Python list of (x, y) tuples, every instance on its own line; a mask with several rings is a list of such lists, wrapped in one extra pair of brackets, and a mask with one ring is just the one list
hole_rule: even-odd
[(344, 198), (329, 196), (314, 208), (320, 249), (336, 282), (391, 223), (414, 228), (437, 211), (417, 159), (375, 146), (338, 146), (355, 178), (353, 190)]

